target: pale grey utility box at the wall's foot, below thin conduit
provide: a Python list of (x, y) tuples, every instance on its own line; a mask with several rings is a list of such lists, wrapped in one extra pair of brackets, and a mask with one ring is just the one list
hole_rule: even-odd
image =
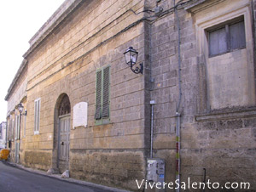
[(152, 188), (154, 184), (154, 191), (165, 191), (165, 160), (160, 158), (147, 159), (147, 188)]

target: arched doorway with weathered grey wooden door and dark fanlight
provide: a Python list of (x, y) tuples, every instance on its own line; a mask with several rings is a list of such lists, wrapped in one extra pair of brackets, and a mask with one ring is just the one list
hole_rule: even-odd
[(55, 104), (55, 130), (53, 169), (65, 172), (69, 167), (69, 135), (70, 135), (70, 101), (66, 93), (62, 93)]

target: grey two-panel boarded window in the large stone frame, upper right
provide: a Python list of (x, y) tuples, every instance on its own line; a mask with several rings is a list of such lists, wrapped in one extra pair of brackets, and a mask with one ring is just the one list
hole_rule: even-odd
[(246, 47), (243, 17), (213, 27), (208, 34), (210, 57)]

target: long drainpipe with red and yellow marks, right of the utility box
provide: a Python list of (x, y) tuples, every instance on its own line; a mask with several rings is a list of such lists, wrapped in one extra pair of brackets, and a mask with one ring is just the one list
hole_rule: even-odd
[(181, 114), (179, 112), (181, 97), (182, 97), (182, 90), (181, 90), (181, 54), (180, 54), (180, 25), (179, 25), (179, 18), (177, 14), (177, 5), (175, 0), (173, 0), (174, 5), (174, 12), (177, 19), (177, 52), (178, 52), (178, 102), (177, 102), (177, 110), (176, 110), (176, 180), (178, 184), (178, 188), (176, 189), (177, 192), (180, 191), (180, 117)]

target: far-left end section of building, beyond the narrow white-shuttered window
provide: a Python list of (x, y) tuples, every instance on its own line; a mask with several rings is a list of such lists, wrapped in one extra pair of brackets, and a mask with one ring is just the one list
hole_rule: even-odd
[[(26, 142), (26, 85), (27, 62), (24, 59), (15, 79), (11, 83), (5, 99), (8, 101), (7, 114), (7, 147), (10, 150), (10, 160), (24, 163)], [(18, 105), (23, 104), (24, 111), (20, 114)]]

